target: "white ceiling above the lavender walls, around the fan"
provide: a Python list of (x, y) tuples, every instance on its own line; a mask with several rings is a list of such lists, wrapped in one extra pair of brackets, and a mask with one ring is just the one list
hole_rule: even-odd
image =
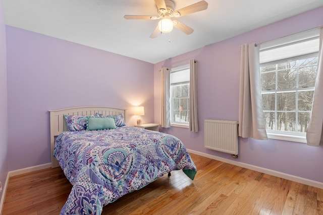
[[(175, 10), (179, 10), (199, 0), (174, 2)], [(158, 35), (154, 39), (149, 36), (158, 20), (126, 20), (123, 17), (157, 16), (154, 0), (2, 0), (2, 5), (9, 26), (150, 63), (323, 6), (322, 0), (206, 2), (205, 11), (175, 19), (193, 28), (192, 34), (186, 35), (174, 28), (171, 34)]]

